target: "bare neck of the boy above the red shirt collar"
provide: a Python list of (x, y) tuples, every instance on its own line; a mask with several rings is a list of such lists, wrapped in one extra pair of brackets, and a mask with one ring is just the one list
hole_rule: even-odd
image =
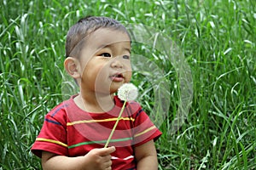
[(90, 113), (105, 113), (113, 109), (113, 94), (79, 94), (74, 102)]

